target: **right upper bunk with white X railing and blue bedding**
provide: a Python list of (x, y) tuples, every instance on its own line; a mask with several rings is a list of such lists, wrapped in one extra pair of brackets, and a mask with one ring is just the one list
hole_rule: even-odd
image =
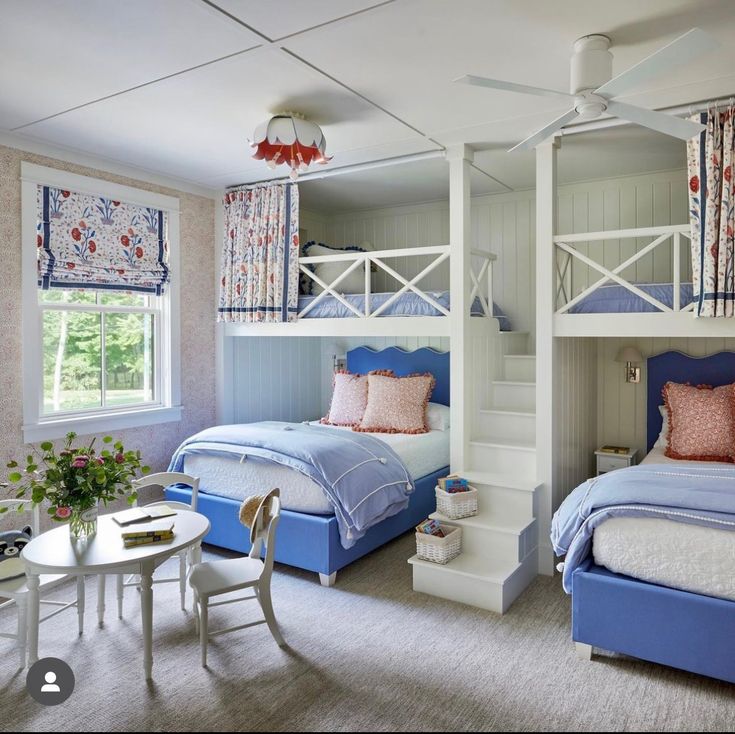
[(691, 226), (557, 235), (554, 336), (732, 336), (696, 317)]

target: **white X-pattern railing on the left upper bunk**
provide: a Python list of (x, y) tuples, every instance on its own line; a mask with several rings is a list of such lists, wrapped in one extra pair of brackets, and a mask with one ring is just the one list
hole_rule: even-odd
[[(449, 309), (439, 303), (430, 293), (422, 290), (419, 287), (419, 283), (429, 273), (433, 272), (438, 268), (444, 261), (449, 259), (451, 248), (449, 245), (437, 245), (432, 247), (406, 247), (396, 250), (378, 250), (375, 252), (340, 252), (334, 255), (318, 255), (315, 257), (302, 257), (299, 258), (299, 268), (301, 272), (308, 278), (311, 278), (317, 285), (322, 288), (322, 292), (315, 296), (309, 301), (304, 308), (299, 311), (299, 317), (305, 316), (311, 311), (321, 300), (327, 296), (333, 296), (337, 299), (345, 308), (349, 309), (358, 318), (377, 318), (386, 313), (387, 309), (395, 303), (404, 293), (411, 291), (415, 293), (419, 298), (426, 301), (428, 304), (433, 306), (439, 311), (442, 316), (449, 316)], [(492, 279), (493, 279), (493, 261), (496, 256), (492, 253), (485, 252), (483, 250), (472, 250), (471, 254), (474, 259), (478, 259), (481, 265), (478, 269), (473, 267), (470, 268), (470, 279), (472, 283), (472, 290), (470, 295), (470, 304), (472, 304), (477, 298), (481, 305), (483, 314), (486, 318), (492, 317)], [(391, 258), (407, 258), (407, 257), (426, 257), (434, 256), (434, 259), (419, 273), (414, 275), (412, 278), (406, 278), (399, 272), (388, 265), (385, 261)], [(335, 263), (345, 262), (350, 263), (347, 268), (331, 283), (325, 283), (309, 266), (318, 265), (320, 263)], [(339, 284), (352, 272), (362, 268), (364, 273), (364, 300), (363, 308), (357, 308), (355, 305), (350, 303), (344, 295), (339, 291)], [(374, 269), (380, 268), (384, 270), (388, 275), (395, 278), (401, 287), (398, 291), (391, 294), (380, 306), (372, 309), (372, 277), (371, 273)], [(485, 283), (485, 288), (483, 288)]]

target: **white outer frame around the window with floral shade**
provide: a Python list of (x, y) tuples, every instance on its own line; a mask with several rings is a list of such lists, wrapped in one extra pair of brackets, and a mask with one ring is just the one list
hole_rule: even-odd
[[(138, 206), (161, 209), (168, 219), (171, 280), (161, 296), (160, 355), (156, 376), (160, 395), (155, 404), (84, 409), (58, 415), (42, 414), (43, 324), (38, 299), (36, 247), (37, 187), (104, 196)], [(181, 420), (181, 335), (179, 297), (179, 200), (143, 189), (80, 176), (56, 168), (21, 163), (22, 328), (23, 328), (23, 440), (26, 443), (60, 438), (69, 431), (80, 435), (124, 430)], [(95, 309), (96, 310), (96, 309)], [(105, 309), (107, 310), (107, 309)], [(116, 309), (117, 310), (117, 309)], [(122, 309), (124, 310), (124, 309)], [(137, 310), (137, 309), (136, 309)]]

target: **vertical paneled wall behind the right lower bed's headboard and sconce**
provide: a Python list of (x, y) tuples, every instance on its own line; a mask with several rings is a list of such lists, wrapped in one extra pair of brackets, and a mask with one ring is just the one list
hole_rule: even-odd
[(635, 346), (644, 358), (670, 350), (695, 357), (723, 350), (735, 351), (735, 337), (609, 338), (598, 342), (597, 442), (636, 448), (640, 452), (639, 459), (646, 453), (646, 365), (641, 365), (640, 383), (626, 382), (623, 374), (625, 365), (615, 362), (620, 347)]

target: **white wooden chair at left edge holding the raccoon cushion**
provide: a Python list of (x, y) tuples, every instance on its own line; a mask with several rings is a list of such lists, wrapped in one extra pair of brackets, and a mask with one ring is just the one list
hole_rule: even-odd
[[(40, 523), (40, 509), (38, 505), (33, 505), (30, 500), (0, 500), (0, 507), (7, 507), (8, 513), (4, 513), (4, 517), (8, 517), (10, 513), (17, 513), (17, 516), (23, 517), (26, 513), (31, 513), (31, 530), (33, 531), (31, 538), (36, 538), (41, 532)], [(19, 512), (20, 508), (22, 511)], [(65, 574), (42, 574), (40, 577), (39, 591), (49, 591), (54, 587), (58, 586), (69, 576)], [(51, 601), (49, 599), (41, 598), (40, 603), (46, 606), (58, 607), (55, 611), (47, 614), (45, 617), (39, 619), (40, 622), (45, 622), (51, 617), (55, 617), (70, 607), (77, 608), (77, 616), (79, 620), (79, 634), (81, 635), (84, 631), (84, 576), (77, 576), (77, 598), (74, 601), (63, 602), (63, 601)], [(15, 606), (17, 608), (18, 623), (15, 634), (0, 632), (0, 637), (5, 637), (10, 640), (16, 640), (18, 653), (20, 656), (20, 667), (25, 668), (26, 665), (26, 649), (27, 649), (27, 634), (28, 634), (28, 618), (27, 618), (27, 598), (28, 598), (28, 585), (26, 583), (26, 577), (22, 576), (17, 579), (9, 579), (7, 581), (0, 581), (0, 599), (7, 599), (7, 601), (0, 604), (0, 610), (8, 607)]]

